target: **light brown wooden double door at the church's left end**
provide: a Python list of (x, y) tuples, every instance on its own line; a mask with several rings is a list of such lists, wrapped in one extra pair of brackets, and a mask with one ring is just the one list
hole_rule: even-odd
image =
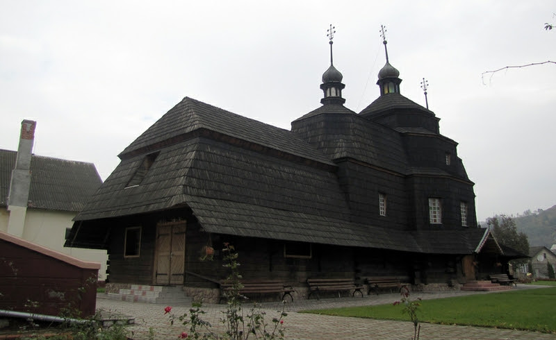
[(186, 222), (156, 226), (156, 284), (183, 284), (186, 259)]

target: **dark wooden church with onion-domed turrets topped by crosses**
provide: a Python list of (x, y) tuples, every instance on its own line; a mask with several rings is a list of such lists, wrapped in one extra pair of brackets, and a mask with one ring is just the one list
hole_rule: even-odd
[(386, 39), (380, 95), (357, 113), (329, 38), (319, 108), (284, 130), (184, 98), (120, 153), (66, 246), (108, 250), (109, 284), (193, 295), (226, 278), (224, 242), (246, 280), (283, 280), (300, 296), (308, 278), (448, 289), (495, 271), (505, 255), (477, 226), (457, 142), (401, 94)]

